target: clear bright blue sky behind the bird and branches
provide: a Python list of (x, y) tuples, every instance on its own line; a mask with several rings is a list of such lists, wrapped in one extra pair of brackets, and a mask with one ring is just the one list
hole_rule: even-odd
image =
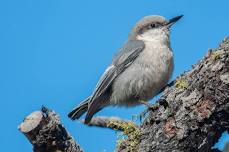
[[(228, 0), (0, 1), (1, 150), (31, 151), (17, 126), (45, 105), (85, 151), (113, 151), (113, 131), (72, 122), (67, 113), (90, 95), (131, 27), (145, 15), (184, 14), (171, 33), (175, 78), (229, 35), (228, 6)], [(107, 108), (99, 115), (131, 119), (144, 108)]]

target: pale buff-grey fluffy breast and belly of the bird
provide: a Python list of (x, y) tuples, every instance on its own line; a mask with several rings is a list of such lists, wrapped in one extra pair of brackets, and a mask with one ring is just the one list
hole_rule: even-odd
[(152, 98), (167, 84), (172, 71), (173, 54), (170, 48), (145, 43), (139, 57), (115, 80), (111, 102), (131, 106), (136, 105), (137, 100)]

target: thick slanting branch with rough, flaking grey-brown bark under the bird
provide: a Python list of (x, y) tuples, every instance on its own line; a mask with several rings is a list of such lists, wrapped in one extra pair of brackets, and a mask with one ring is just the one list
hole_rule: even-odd
[[(229, 38), (178, 77), (157, 103), (163, 104), (141, 124), (134, 151), (218, 151), (212, 146), (229, 131)], [(117, 151), (131, 151), (131, 142)]]

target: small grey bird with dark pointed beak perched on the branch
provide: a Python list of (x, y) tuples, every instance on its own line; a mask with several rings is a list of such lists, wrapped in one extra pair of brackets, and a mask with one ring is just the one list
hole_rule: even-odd
[(106, 106), (145, 104), (166, 86), (173, 72), (170, 27), (181, 16), (166, 20), (162, 16), (143, 17), (129, 34), (128, 41), (114, 56), (90, 97), (74, 108), (68, 117), (85, 123)]

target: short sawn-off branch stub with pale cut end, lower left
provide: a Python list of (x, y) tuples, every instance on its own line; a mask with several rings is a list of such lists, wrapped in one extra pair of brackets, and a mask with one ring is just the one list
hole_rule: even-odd
[(27, 116), (19, 130), (33, 145), (34, 152), (83, 152), (61, 125), (59, 116), (45, 107)]

